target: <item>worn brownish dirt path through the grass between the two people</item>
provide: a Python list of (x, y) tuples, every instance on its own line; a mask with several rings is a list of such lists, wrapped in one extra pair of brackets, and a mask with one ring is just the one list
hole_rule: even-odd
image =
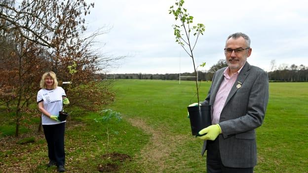
[(146, 133), (152, 135), (150, 142), (142, 149), (140, 157), (142, 165), (147, 170), (143, 170), (145, 173), (162, 173), (166, 168), (166, 160), (170, 160), (169, 155), (176, 150), (177, 143), (184, 138), (184, 135), (172, 135), (167, 134), (163, 130), (163, 127), (159, 129), (153, 129), (145, 121), (139, 118), (125, 118), (133, 126), (141, 128)]

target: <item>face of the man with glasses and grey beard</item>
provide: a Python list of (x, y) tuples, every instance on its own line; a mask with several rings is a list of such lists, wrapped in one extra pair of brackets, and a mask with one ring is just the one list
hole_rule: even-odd
[[(237, 72), (241, 67), (244, 66), (252, 50), (251, 48), (247, 48), (248, 46), (243, 37), (238, 37), (236, 39), (231, 37), (227, 40), (225, 56), (231, 72)], [(232, 49), (236, 50), (234, 51)]]

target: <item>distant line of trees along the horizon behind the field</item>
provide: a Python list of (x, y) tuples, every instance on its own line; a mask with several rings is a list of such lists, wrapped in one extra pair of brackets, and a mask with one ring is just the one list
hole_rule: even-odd
[[(198, 71), (198, 80), (211, 81), (215, 71), (222, 67), (226, 67), (225, 61), (220, 60), (216, 65), (207, 71)], [(296, 66), (280, 65), (279, 68), (269, 71), (269, 81), (271, 82), (308, 82), (308, 67), (304, 65)], [(194, 80), (193, 72), (181, 73), (181, 80)], [(179, 80), (179, 73), (167, 74), (143, 74), (143, 73), (125, 73), (125, 74), (100, 74), (101, 79), (159, 79), (159, 80)]]

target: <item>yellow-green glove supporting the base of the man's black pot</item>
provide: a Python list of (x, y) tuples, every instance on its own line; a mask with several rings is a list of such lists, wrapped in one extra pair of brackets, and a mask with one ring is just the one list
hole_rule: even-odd
[(203, 140), (215, 140), (221, 133), (222, 131), (219, 124), (215, 124), (200, 130), (196, 137)]

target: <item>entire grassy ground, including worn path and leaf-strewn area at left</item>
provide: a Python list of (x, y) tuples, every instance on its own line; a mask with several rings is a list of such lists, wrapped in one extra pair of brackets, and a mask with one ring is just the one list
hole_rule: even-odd
[[(210, 82), (202, 82), (205, 98)], [(191, 135), (186, 106), (196, 102), (192, 81), (117, 80), (116, 101), (109, 108), (123, 120), (95, 123), (98, 112), (74, 109), (67, 122), (66, 168), (72, 173), (95, 173), (106, 163), (106, 127), (110, 134), (108, 152), (128, 155), (118, 162), (118, 173), (205, 173), (200, 156), (202, 141)], [(258, 165), (255, 173), (308, 173), (308, 83), (270, 83), (269, 105), (264, 124), (257, 129)], [(33, 126), (22, 137), (35, 136), (35, 143), (16, 144), (13, 114), (0, 110), (0, 172), (54, 172), (46, 168), (47, 148)], [(31, 124), (30, 123), (30, 124)], [(7, 171), (8, 170), (8, 171)]]

